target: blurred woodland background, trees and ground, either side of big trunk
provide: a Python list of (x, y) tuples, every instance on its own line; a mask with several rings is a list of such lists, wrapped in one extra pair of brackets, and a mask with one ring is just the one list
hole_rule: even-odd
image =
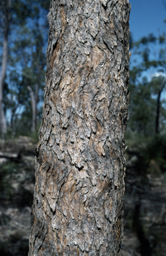
[[(48, 0), (13, 0), (9, 19), (7, 1), (0, 3), (1, 73), (5, 26), (9, 26), (3, 81), (5, 133), (1, 130), (0, 139), (1, 255), (27, 255), (28, 251), (49, 3)], [(121, 255), (163, 256), (166, 255), (165, 31), (157, 36), (149, 33), (139, 41), (134, 41), (131, 33), (130, 51), (125, 240)]]

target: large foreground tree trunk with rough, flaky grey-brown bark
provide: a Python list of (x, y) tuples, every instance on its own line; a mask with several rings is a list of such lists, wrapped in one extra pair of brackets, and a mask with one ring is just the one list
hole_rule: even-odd
[(52, 0), (29, 256), (120, 255), (128, 0)]

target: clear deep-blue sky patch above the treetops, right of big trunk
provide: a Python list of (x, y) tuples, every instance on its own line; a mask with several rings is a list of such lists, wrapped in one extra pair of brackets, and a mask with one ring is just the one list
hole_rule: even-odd
[(130, 30), (134, 41), (141, 37), (159, 31), (166, 31), (163, 22), (166, 19), (166, 10), (162, 0), (129, 0), (131, 3)]

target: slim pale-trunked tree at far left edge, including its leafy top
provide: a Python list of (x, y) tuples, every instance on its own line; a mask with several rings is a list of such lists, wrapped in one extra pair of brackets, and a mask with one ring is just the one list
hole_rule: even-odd
[[(4, 86), (7, 87), (7, 68), (9, 65), (9, 58), (11, 55), (11, 47), (13, 44), (13, 37), (15, 37), (15, 27), (25, 23), (29, 16), (29, 9), (22, 0), (2, 0), (0, 3), (0, 33), (1, 33), (1, 77), (0, 77), (0, 131), (1, 137), (7, 131), (7, 121), (5, 117), (4, 106)], [(6, 88), (5, 88), (6, 89)], [(9, 90), (8, 90), (9, 91)], [(6, 99), (5, 99), (6, 100)]]

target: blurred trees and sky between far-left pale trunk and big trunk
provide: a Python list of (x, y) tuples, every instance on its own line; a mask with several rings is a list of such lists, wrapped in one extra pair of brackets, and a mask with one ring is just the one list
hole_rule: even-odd
[[(6, 2), (3, 3), (2, 1), (1, 13), (5, 11), (3, 8), (5, 4)], [(48, 31), (45, 17), (48, 9), (48, 0), (14, 0), (11, 3), (10, 29), (8, 29), (7, 37), (10, 41), (9, 54), (8, 61), (6, 59), (7, 72), (5, 72), (1, 93), (3, 95), (2, 111), (6, 124), (3, 131), (4, 135), (8, 130), (10, 133), (12, 131), (13, 135), (19, 134), (21, 130), (30, 134), (30, 131), (35, 131), (38, 122), (37, 117), (41, 115), (39, 106), (42, 105), (41, 102), (43, 101), (42, 91), (45, 79), (45, 51)], [(6, 19), (7, 15), (4, 17)], [(2, 29), (1, 35), (4, 35)], [(5, 48), (1, 44), (0, 47), (2, 55), (4, 55), (3, 49)], [(4, 61), (2, 67), (3, 63)], [(3, 68), (1, 68), (2, 70)], [(26, 108), (28, 114), (25, 115)], [(21, 119), (24, 121), (22, 122)], [(21, 129), (20, 125), (22, 127), (25, 125), (27, 129)]]

